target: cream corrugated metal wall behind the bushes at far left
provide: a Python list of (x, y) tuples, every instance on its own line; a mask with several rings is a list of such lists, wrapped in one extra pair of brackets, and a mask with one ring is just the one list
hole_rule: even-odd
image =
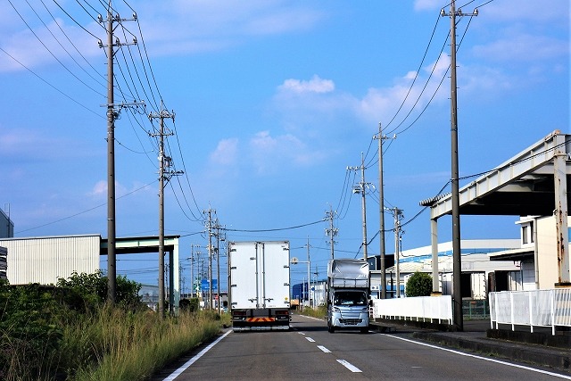
[(52, 285), (58, 277), (76, 271), (87, 274), (99, 269), (101, 236), (48, 236), (0, 240), (8, 249), (6, 271), (11, 285)]

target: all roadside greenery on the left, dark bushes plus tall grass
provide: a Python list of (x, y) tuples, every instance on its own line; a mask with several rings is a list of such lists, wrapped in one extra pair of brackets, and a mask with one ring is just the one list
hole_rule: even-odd
[(103, 281), (98, 273), (62, 286), (0, 280), (0, 380), (144, 380), (222, 325), (208, 311), (160, 319), (137, 302), (138, 286), (119, 277), (127, 297), (110, 306), (98, 296)]

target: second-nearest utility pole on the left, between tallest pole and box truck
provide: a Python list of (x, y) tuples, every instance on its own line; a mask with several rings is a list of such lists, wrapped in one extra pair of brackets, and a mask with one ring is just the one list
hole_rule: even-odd
[[(165, 132), (164, 120), (172, 119), (175, 120), (174, 112), (168, 112), (162, 109), (161, 102), (161, 112), (150, 113), (149, 120), (159, 119), (159, 132), (157, 134), (151, 134), (153, 137), (159, 137), (159, 315), (162, 317), (164, 315), (164, 186), (165, 179), (169, 181), (170, 170), (165, 170), (170, 168), (170, 157), (164, 154), (164, 137), (167, 135), (173, 135), (172, 132)], [(166, 172), (166, 174), (165, 174)], [(172, 283), (172, 282), (170, 282)], [(174, 285), (170, 284), (170, 290)], [(169, 300), (169, 311), (174, 313), (173, 298)]]

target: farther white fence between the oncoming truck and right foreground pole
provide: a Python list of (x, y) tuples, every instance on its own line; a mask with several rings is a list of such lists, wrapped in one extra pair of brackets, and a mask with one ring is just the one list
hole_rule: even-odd
[(373, 299), (373, 318), (446, 321), (452, 324), (451, 295)]

